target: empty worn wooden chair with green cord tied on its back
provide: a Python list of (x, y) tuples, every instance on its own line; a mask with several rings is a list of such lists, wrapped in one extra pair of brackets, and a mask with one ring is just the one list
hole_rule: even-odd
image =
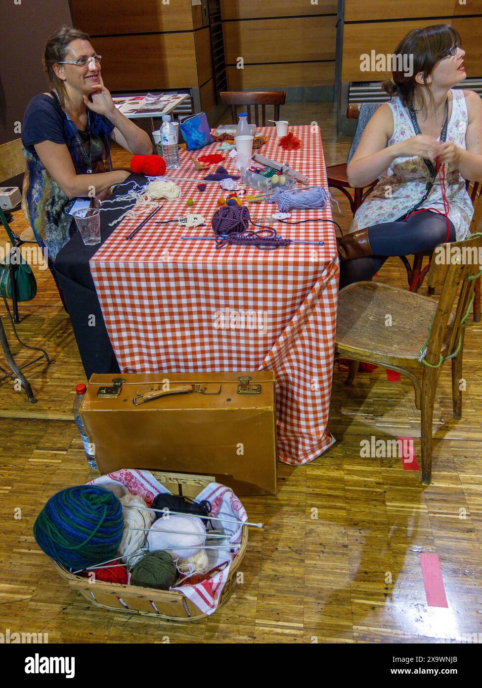
[[(480, 255), (482, 234), (454, 241), (461, 256), (472, 248)], [(435, 249), (437, 250), (437, 249)], [(432, 261), (428, 285), (441, 287), (439, 301), (377, 282), (355, 282), (340, 291), (335, 358), (353, 360), (347, 384), (353, 383), (360, 361), (367, 361), (408, 377), (421, 411), (421, 482), (430, 484), (432, 471), (432, 416), (437, 381), (443, 361), (452, 361), (452, 407), (461, 418), (464, 327), (474, 299), (478, 259), (436, 264)], [(457, 299), (457, 292), (459, 293)], [(457, 309), (452, 312), (457, 300)], [(386, 327), (386, 314), (392, 318)], [(427, 332), (429, 332), (427, 338)], [(426, 349), (424, 358), (420, 352)], [(421, 373), (421, 379), (413, 372)]]

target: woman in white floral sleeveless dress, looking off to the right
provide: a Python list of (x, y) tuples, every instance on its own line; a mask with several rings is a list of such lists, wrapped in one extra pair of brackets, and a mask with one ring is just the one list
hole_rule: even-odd
[[(473, 91), (453, 88), (466, 77), (460, 46), (458, 32), (440, 24), (411, 31), (395, 49), (404, 56), (400, 66), (410, 66), (384, 83), (396, 97), (375, 111), (347, 168), (353, 187), (378, 183), (349, 234), (337, 239), (340, 288), (370, 280), (388, 256), (468, 235), (474, 208), (465, 180), (482, 180), (482, 102)], [(439, 214), (443, 173), (448, 222)]]

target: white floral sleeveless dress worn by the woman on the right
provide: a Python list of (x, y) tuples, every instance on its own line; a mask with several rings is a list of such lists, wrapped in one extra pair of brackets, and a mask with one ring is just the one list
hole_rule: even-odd
[[(447, 140), (465, 149), (465, 132), (468, 125), (467, 104), (463, 91), (452, 89), (452, 113), (448, 122)], [(415, 136), (410, 115), (402, 105), (400, 98), (387, 103), (393, 112), (393, 135), (388, 146)], [(465, 180), (459, 170), (446, 164), (445, 189), (448, 201), (448, 218), (455, 228), (457, 241), (465, 239), (474, 207), (465, 191)], [(424, 196), (426, 183), (430, 181), (430, 173), (423, 158), (418, 155), (413, 158), (395, 158), (388, 169), (382, 173), (379, 182), (362, 203), (353, 217), (350, 232), (364, 227), (371, 227), (381, 222), (393, 222), (413, 208)], [(388, 187), (388, 189), (387, 189)], [(391, 193), (391, 196), (390, 196)], [(437, 208), (443, 211), (443, 200), (440, 180), (437, 177), (424, 208)]]

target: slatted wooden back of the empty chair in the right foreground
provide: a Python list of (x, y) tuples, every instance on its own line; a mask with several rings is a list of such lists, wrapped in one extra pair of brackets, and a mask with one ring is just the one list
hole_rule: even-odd
[(441, 347), (446, 341), (446, 330), (457, 292), (459, 292), (457, 310), (452, 325), (452, 334), (448, 354), (457, 349), (460, 323), (472, 306), (476, 276), (480, 275), (482, 256), (482, 233), (476, 233), (465, 241), (452, 241), (451, 244), (439, 244), (433, 254), (428, 270), (428, 286), (441, 287), (441, 294), (435, 318), (428, 338), (425, 360), (430, 365), (437, 365)]

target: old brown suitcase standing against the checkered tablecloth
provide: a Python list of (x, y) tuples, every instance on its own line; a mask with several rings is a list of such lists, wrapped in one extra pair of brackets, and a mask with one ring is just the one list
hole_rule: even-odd
[(80, 407), (100, 473), (212, 475), (275, 495), (273, 372), (92, 375)]

